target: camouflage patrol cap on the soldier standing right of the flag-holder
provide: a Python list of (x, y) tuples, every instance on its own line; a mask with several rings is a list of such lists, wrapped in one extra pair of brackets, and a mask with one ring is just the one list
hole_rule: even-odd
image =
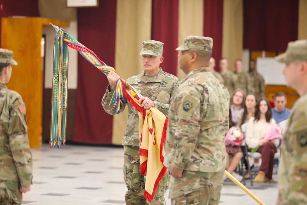
[(183, 45), (179, 46), (176, 50), (189, 50), (196, 49), (202, 51), (212, 52), (213, 39), (203, 36), (187, 36)]

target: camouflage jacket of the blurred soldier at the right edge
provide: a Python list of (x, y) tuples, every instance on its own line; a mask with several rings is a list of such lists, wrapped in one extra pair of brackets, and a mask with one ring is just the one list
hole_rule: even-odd
[(307, 92), (294, 104), (278, 169), (277, 204), (307, 204)]

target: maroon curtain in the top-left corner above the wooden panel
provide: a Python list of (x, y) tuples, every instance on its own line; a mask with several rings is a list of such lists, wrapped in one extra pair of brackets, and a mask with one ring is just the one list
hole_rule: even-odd
[(0, 47), (1, 18), (10, 16), (39, 17), (38, 0), (0, 0)]

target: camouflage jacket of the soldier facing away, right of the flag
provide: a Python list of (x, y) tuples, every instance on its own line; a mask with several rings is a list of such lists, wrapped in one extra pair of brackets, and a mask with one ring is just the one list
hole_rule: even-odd
[(201, 172), (223, 171), (229, 129), (229, 92), (209, 67), (181, 81), (169, 108), (165, 166)]

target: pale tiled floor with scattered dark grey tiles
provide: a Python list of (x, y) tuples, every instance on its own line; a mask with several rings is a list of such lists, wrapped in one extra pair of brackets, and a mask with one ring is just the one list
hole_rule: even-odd
[[(32, 149), (33, 185), (24, 194), (29, 205), (119, 205), (125, 204), (122, 175), (123, 148), (66, 145), (61, 149)], [(276, 179), (276, 175), (274, 175)], [(275, 204), (276, 183), (254, 184), (250, 189), (266, 205)], [(166, 193), (168, 197), (168, 192)], [(170, 199), (166, 199), (170, 204)], [(225, 181), (220, 204), (258, 204), (240, 187)]]

